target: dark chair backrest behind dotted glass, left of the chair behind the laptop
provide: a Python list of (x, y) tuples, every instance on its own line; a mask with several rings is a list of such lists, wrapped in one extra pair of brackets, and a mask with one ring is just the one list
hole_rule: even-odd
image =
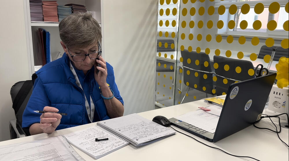
[(183, 58), (184, 84), (187, 85), (188, 82), (188, 87), (213, 94), (213, 72), (209, 55), (184, 50), (181, 51), (181, 57)]

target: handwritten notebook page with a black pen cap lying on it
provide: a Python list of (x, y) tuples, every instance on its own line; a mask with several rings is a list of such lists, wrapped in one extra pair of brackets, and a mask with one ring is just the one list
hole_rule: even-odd
[[(98, 159), (106, 154), (128, 145), (129, 142), (95, 125), (87, 129), (64, 135), (67, 141), (91, 157)], [(95, 141), (97, 137), (106, 137), (106, 141)]]

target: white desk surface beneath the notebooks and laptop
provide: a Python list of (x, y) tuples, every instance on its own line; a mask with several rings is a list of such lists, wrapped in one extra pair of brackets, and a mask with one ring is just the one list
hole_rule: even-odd
[[(144, 118), (152, 120), (154, 116), (162, 115), (167, 118), (178, 116), (186, 112), (196, 110), (199, 106), (205, 106), (203, 100), (189, 102), (186, 104), (180, 104), (167, 108), (161, 108), (157, 110), (151, 110), (147, 112), (139, 113)], [(13, 143), (20, 143), (24, 141), (32, 141), (36, 139), (47, 138), (55, 135), (67, 134), (73, 131), (84, 129), (93, 126), (95, 123), (81, 125), (78, 127), (72, 127), (68, 129), (62, 129), (55, 131), (51, 134), (38, 134), (29, 137), (23, 137), (8, 141), (0, 142), (0, 145), (8, 145)], [(272, 128), (266, 121), (261, 121), (257, 124), (260, 127)], [(174, 127), (176, 128), (176, 127)], [(180, 129), (178, 129), (180, 130)], [(182, 131), (182, 130), (180, 130)], [(184, 132), (184, 131), (183, 131)], [(185, 132), (186, 133), (186, 132)], [(189, 134), (189, 133), (187, 133)], [(191, 135), (191, 134), (189, 134)], [(279, 134), (280, 138), (288, 144), (288, 129), (282, 128)], [(257, 129), (250, 126), (238, 133), (235, 133), (225, 139), (222, 139), (216, 143), (205, 141), (199, 137), (191, 135), (194, 138), (207, 143), (209, 145), (219, 147), (231, 154), (241, 156), (251, 156), (259, 160), (288, 160), (288, 148), (281, 143), (276, 133)], [(90, 156), (79, 151), (74, 147), (77, 153), (80, 154), (85, 160), (93, 160)], [(143, 147), (134, 147), (133, 145), (127, 145), (120, 150), (117, 150), (111, 154), (108, 154), (100, 159), (101, 160), (165, 160), (165, 161), (178, 161), (178, 160), (240, 160), (241, 158), (229, 156), (223, 152), (212, 149), (192, 138), (189, 138), (183, 134), (176, 133), (176, 135), (162, 139), (155, 143), (145, 145)], [(252, 159), (248, 159), (252, 160)]]

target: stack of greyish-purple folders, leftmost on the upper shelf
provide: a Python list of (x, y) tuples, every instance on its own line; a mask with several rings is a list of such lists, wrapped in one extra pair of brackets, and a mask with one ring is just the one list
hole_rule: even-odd
[(43, 21), (42, 0), (29, 0), (31, 21)]

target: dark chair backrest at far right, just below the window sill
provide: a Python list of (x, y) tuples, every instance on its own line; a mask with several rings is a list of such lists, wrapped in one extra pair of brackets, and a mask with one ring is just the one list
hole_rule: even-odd
[(273, 60), (279, 61), (280, 57), (289, 57), (289, 48), (284, 49), (281, 46), (267, 47), (266, 45), (263, 45), (259, 51), (258, 58), (263, 59), (265, 55), (271, 56), (273, 49), (276, 49)]

